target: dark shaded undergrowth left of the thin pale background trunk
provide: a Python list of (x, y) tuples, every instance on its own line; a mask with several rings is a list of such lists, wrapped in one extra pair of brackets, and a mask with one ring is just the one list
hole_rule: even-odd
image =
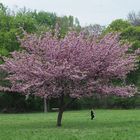
[(43, 111), (43, 101), (40, 98), (29, 97), (17, 93), (1, 93), (0, 109), (3, 113)]

